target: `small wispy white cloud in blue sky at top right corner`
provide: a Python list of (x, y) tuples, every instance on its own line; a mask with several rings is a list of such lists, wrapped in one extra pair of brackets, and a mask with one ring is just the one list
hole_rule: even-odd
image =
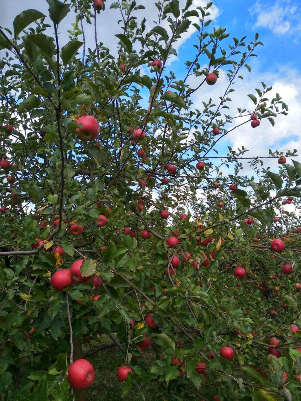
[(248, 11), (251, 16), (256, 16), (255, 27), (268, 28), (276, 35), (292, 34), (300, 29), (300, 13), (291, 0), (281, 2), (277, 0), (270, 7), (257, 1)]

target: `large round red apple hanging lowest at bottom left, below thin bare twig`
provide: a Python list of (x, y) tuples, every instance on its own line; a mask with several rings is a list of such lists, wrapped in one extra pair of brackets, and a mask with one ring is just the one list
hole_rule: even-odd
[(75, 360), (68, 369), (68, 381), (75, 389), (85, 389), (91, 386), (94, 379), (93, 365), (87, 359)]

